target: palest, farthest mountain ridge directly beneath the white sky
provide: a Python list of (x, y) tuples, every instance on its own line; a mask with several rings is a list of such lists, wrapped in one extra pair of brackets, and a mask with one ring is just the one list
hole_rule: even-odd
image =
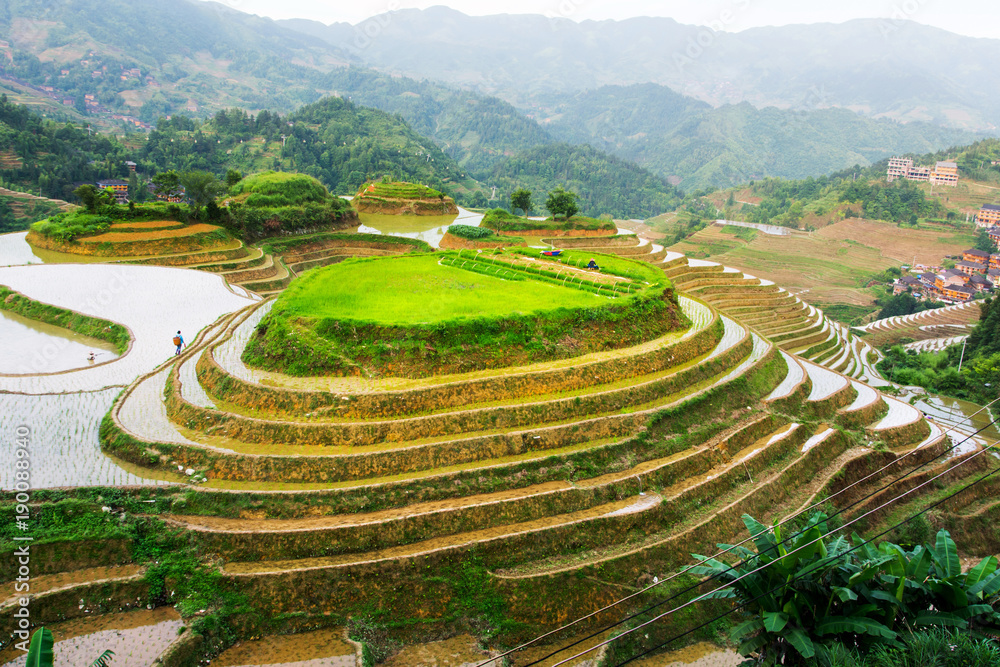
[(519, 106), (539, 94), (656, 83), (713, 105), (843, 107), (976, 130), (1000, 125), (991, 93), (1000, 84), (992, 66), (1000, 40), (912, 21), (729, 33), (669, 18), (577, 23), (432, 7), (358, 26), (279, 23), (339, 44), (369, 66), (497, 94)]

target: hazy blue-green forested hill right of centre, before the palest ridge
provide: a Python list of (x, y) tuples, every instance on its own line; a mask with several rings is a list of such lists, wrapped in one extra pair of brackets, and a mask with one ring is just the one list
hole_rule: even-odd
[(553, 103), (545, 127), (589, 143), (687, 189), (764, 177), (805, 178), (898, 153), (969, 143), (976, 135), (927, 123), (873, 120), (844, 109), (713, 109), (652, 84), (608, 86)]

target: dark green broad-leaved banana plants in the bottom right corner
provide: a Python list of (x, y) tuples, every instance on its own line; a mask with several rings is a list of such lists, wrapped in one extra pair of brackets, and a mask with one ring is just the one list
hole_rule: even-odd
[(1000, 621), (992, 607), (1000, 592), (995, 556), (963, 572), (946, 530), (933, 546), (908, 551), (888, 542), (876, 548), (857, 534), (824, 538), (826, 519), (817, 513), (783, 537), (780, 526), (743, 515), (756, 551), (720, 544), (740, 559), (732, 566), (694, 555), (704, 564), (692, 574), (731, 583), (710, 597), (736, 600), (748, 615), (732, 635), (741, 654), (758, 656), (756, 664), (829, 664), (837, 646), (902, 647), (907, 628)]

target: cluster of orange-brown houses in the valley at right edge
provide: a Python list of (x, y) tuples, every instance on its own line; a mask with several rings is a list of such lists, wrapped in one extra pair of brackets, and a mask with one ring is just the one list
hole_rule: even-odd
[(970, 249), (954, 269), (903, 276), (893, 283), (893, 295), (910, 292), (919, 298), (960, 303), (981, 292), (990, 293), (1000, 283), (1000, 253)]

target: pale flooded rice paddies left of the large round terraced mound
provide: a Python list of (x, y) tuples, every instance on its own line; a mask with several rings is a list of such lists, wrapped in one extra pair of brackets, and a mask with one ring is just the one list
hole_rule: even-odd
[[(115, 358), (96, 343), (81, 343), (64, 330), (27, 326), (14, 318), (0, 320), (6, 348), (0, 356), (4, 441), (9, 442), (20, 427), (30, 431), (34, 488), (156, 483), (127, 472), (101, 453), (101, 419), (122, 389), (171, 358), (176, 331), (190, 342), (219, 317), (258, 299), (234, 292), (220, 276), (186, 269), (12, 265), (23, 259), (23, 249), (18, 238), (11, 237), (20, 237), (24, 244), (23, 235), (0, 236), (0, 285), (37, 301), (122, 324), (129, 329), (132, 344)], [(92, 348), (97, 360), (89, 364)], [(35, 374), (11, 374), (23, 369)], [(13, 485), (13, 449), (0, 449), (2, 489)]]

